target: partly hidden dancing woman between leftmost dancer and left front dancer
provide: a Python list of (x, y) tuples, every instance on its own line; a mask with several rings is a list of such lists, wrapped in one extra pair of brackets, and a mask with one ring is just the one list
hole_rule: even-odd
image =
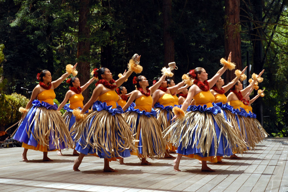
[[(86, 84), (80, 87), (80, 81), (77, 77), (71, 77), (67, 79), (67, 83), (69, 84), (69, 91), (66, 92), (65, 98), (62, 101), (62, 103), (58, 107), (58, 111), (62, 109), (64, 106), (64, 109), (66, 112), (62, 115), (67, 127), (69, 128), (69, 131), (71, 130), (71, 127), (74, 125), (76, 119), (75, 116), (72, 114), (73, 109), (76, 108), (83, 108), (83, 100), (84, 97), (82, 96), (82, 92), (88, 88), (88, 86), (95, 80), (94, 77), (92, 77)], [(69, 100), (69, 104), (66, 104), (66, 102)], [(74, 142), (75, 146), (75, 135), (71, 135), (72, 140)], [(57, 151), (58, 155), (63, 155), (61, 153), (61, 149)], [(75, 150), (73, 150), (73, 155), (79, 155), (79, 153)]]

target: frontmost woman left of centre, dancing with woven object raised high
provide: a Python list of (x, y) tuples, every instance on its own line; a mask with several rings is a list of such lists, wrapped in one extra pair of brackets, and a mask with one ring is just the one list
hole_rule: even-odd
[[(118, 95), (115, 89), (121, 86), (133, 71), (136, 73), (142, 71), (142, 67), (137, 65), (140, 57), (135, 54), (128, 64), (129, 70), (116, 81), (113, 80), (110, 70), (105, 67), (94, 72), (94, 76), (100, 80), (96, 83), (90, 100), (81, 114), (77, 114), (77, 110), (73, 111), (76, 118), (83, 117), (82, 113), (94, 103), (93, 111), (73, 126), (73, 130), (81, 135), (75, 148), (80, 155), (74, 162), (74, 171), (80, 171), (78, 167), (88, 153), (104, 158), (103, 170), (108, 172), (118, 172), (109, 166), (109, 161), (130, 156), (129, 148), (134, 148), (132, 132), (122, 116), (124, 111), (116, 104)], [(97, 97), (99, 101), (95, 102)]]

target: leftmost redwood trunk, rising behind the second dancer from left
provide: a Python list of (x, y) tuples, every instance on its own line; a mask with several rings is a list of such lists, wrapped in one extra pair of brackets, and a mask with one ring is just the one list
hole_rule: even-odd
[[(81, 85), (84, 85), (90, 79), (90, 28), (87, 24), (89, 15), (89, 0), (80, 0), (79, 8), (77, 77), (79, 78)], [(86, 104), (86, 102), (89, 100), (89, 91), (84, 91), (82, 95), (84, 97), (83, 104)]]

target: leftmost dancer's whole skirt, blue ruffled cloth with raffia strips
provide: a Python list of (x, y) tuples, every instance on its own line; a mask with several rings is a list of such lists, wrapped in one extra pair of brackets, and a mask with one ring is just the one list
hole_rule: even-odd
[(34, 100), (21, 119), (14, 139), (27, 149), (43, 152), (73, 146), (68, 127), (57, 111), (56, 104)]

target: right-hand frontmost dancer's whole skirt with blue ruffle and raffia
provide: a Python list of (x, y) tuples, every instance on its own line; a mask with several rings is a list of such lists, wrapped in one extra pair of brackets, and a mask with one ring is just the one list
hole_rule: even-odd
[(217, 162), (216, 156), (227, 153), (230, 146), (227, 130), (232, 127), (220, 113), (218, 106), (189, 106), (185, 117), (163, 132), (164, 139), (170, 136), (168, 142), (178, 146), (178, 154)]

